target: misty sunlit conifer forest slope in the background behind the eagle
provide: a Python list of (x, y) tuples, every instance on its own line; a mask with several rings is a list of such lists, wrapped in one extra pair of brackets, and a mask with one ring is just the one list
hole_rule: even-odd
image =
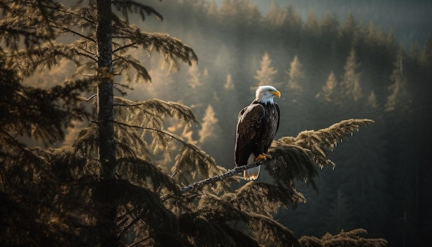
[[(152, 82), (132, 85), (128, 98), (190, 106), (199, 126), (182, 132), (173, 121), (166, 128), (226, 168), (234, 166), (237, 113), (253, 100), (258, 85), (271, 84), (282, 93), (276, 99), (282, 115), (276, 138), (342, 119), (375, 120), (330, 155), (336, 167), (320, 172), (319, 192), (299, 183), (307, 203), (281, 210), (277, 218), (297, 236), (365, 228), (369, 237), (384, 237), (390, 246), (419, 244), (432, 228), (431, 26), (404, 37), (398, 26), (390, 30), (372, 19), (360, 21), (349, 9), (341, 19), (331, 8), (315, 14), (312, 3), (303, 6), (309, 7), (307, 15), (294, 7), (300, 1), (277, 4), (262, 11), (248, 0), (155, 3), (168, 18), (162, 25), (149, 18), (139, 27), (180, 37), (199, 63), (170, 74), (169, 64), (160, 70), (160, 57), (137, 57)], [(130, 22), (139, 23), (133, 18)], [(48, 88), (68, 77), (72, 67), (61, 63), (25, 83)], [(71, 128), (63, 144), (71, 144), (78, 130)], [(170, 150), (176, 148), (172, 144)], [(173, 164), (164, 152), (154, 159), (167, 171)], [(260, 175), (259, 181), (265, 180)]]

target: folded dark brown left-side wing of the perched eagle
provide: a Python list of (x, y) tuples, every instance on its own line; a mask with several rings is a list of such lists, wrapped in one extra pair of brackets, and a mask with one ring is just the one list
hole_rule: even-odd
[(246, 106), (239, 112), (237, 122), (237, 132), (235, 141), (235, 164), (243, 166), (259, 138), (260, 132), (264, 128), (265, 110), (259, 103)]

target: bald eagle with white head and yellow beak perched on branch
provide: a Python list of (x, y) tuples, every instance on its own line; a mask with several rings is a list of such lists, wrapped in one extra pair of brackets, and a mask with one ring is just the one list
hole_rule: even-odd
[[(273, 86), (259, 86), (255, 100), (239, 112), (235, 141), (235, 166), (244, 166), (259, 159), (269, 159), (266, 154), (279, 128), (279, 106), (273, 97), (280, 92)], [(244, 170), (246, 180), (255, 180), (260, 167)]]

